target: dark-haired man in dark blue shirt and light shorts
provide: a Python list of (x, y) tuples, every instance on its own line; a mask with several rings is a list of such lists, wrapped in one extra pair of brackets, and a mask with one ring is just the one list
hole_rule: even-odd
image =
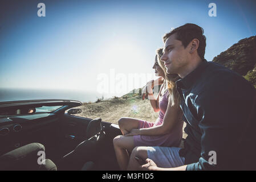
[[(136, 147), (128, 170), (256, 169), (255, 88), (242, 76), (204, 59), (206, 38), (196, 24), (166, 34), (164, 61), (177, 73), (186, 122), (184, 148)], [(140, 165), (135, 157), (144, 160)]]

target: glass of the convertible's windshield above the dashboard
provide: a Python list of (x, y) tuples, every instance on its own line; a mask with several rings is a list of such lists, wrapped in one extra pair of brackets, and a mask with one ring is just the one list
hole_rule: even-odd
[(40, 107), (21, 107), (20, 109), (10, 109), (0, 112), (0, 115), (19, 115), (35, 113), (51, 113), (63, 106), (40, 106)]

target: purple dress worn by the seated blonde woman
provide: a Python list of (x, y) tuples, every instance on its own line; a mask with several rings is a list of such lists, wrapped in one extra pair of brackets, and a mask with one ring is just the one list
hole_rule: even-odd
[[(164, 115), (168, 106), (168, 90), (159, 96), (159, 118), (155, 123), (147, 121), (139, 121), (139, 128), (148, 128), (158, 126), (162, 124)], [(178, 147), (182, 139), (182, 127), (183, 127), (182, 115), (178, 118), (178, 121), (172, 131), (165, 135), (135, 135), (133, 136), (134, 144), (136, 146), (162, 146), (162, 147)]]

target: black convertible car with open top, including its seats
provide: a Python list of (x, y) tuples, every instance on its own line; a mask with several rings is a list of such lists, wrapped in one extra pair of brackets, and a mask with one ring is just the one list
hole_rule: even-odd
[(76, 116), (81, 110), (72, 107), (80, 105), (0, 102), (0, 170), (119, 170), (112, 144), (118, 125)]

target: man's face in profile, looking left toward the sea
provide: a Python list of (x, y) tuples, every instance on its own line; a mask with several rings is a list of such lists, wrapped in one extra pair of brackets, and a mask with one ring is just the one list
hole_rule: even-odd
[(164, 43), (164, 49), (161, 61), (164, 61), (167, 73), (176, 73), (180, 75), (182, 69), (188, 64), (189, 46), (184, 48), (182, 42), (176, 39), (176, 34), (169, 36)]

